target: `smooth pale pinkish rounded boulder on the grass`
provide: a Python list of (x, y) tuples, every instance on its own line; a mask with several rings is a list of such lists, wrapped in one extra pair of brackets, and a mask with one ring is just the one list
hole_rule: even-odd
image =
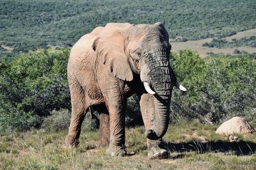
[(255, 129), (241, 117), (233, 117), (227, 120), (216, 130), (218, 134), (249, 134), (253, 132), (256, 132)]

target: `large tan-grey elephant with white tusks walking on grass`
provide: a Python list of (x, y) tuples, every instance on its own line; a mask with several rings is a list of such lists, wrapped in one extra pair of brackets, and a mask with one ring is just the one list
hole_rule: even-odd
[(137, 94), (147, 136), (148, 158), (164, 158), (163, 136), (168, 129), (170, 99), (179, 84), (169, 55), (168, 32), (156, 24), (109, 23), (82, 36), (68, 59), (72, 117), (65, 145), (77, 146), (90, 106), (109, 114), (106, 153), (125, 156), (125, 107)]

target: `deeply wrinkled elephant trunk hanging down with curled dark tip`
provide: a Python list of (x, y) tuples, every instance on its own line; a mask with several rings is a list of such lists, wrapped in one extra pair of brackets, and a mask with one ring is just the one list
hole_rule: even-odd
[[(172, 95), (172, 69), (166, 53), (158, 52), (153, 58), (156, 59), (148, 74), (151, 85), (154, 89), (154, 114), (150, 120), (150, 129), (145, 133), (148, 139), (161, 139), (168, 129), (170, 114), (170, 99)], [(168, 56), (168, 55), (167, 55)]]

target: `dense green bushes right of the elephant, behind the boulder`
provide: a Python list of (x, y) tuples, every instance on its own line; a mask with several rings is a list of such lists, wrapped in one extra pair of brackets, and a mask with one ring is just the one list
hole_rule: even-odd
[(171, 60), (177, 79), (188, 88), (174, 89), (172, 119), (218, 123), (236, 115), (255, 120), (256, 63), (248, 55), (211, 57), (205, 62), (195, 52), (182, 50), (172, 53)]

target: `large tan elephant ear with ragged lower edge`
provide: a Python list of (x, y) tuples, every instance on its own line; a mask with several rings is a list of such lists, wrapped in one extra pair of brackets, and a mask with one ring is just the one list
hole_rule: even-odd
[(124, 36), (120, 31), (105, 27), (95, 39), (92, 48), (110, 73), (124, 81), (132, 80), (132, 70), (124, 51)]

